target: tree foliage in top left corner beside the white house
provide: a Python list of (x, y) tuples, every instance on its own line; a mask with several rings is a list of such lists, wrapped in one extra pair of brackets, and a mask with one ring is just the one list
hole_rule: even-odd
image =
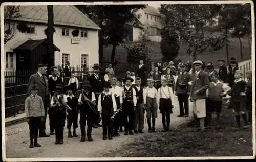
[(4, 44), (15, 37), (17, 30), (15, 26), (11, 26), (10, 22), (15, 18), (20, 17), (19, 6), (5, 6), (4, 7)]

